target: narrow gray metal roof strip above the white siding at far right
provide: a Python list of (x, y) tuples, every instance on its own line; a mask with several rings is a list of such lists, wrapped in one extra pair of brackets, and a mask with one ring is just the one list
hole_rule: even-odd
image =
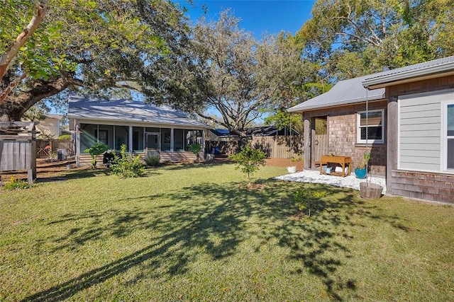
[(362, 84), (365, 87), (384, 86), (385, 83), (449, 71), (454, 72), (454, 56), (383, 71), (377, 74), (370, 74), (369, 76), (365, 76), (365, 81)]

